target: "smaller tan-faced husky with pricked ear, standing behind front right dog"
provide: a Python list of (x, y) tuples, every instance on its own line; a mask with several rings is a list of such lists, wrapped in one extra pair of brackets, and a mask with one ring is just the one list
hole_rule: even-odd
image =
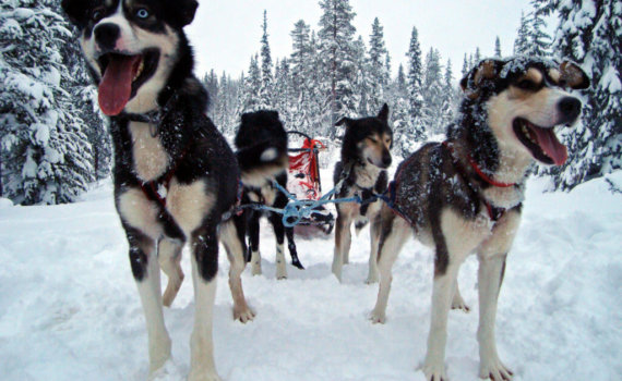
[[(342, 146), (342, 161), (335, 165), (333, 180), (335, 185), (342, 183), (336, 197), (352, 197), (358, 194), (369, 199), (373, 194), (382, 194), (386, 189), (386, 169), (391, 165), (391, 146), (393, 132), (387, 123), (388, 106), (380, 110), (378, 116), (349, 119), (343, 118), (336, 125), (345, 125), (346, 133)], [(371, 221), (371, 253), (369, 257), (369, 274), (367, 282), (378, 282), (378, 242), (380, 237), (380, 206), (376, 200), (368, 205), (357, 202), (337, 204), (337, 222), (335, 228), (335, 253), (333, 273), (342, 281), (342, 267), (348, 263), (351, 233), (350, 225), (355, 221), (357, 231)]]

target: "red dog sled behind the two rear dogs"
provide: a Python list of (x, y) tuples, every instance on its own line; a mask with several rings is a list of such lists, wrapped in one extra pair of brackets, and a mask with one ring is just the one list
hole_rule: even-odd
[[(313, 139), (298, 131), (288, 131), (289, 135), (302, 137), (300, 148), (288, 148), (289, 168), (287, 189), (299, 200), (320, 200), (322, 182), (320, 177), (319, 153), (326, 147), (322, 142)], [(323, 206), (315, 208), (311, 216), (297, 221), (297, 225), (315, 226), (330, 234), (335, 224), (334, 216)]]

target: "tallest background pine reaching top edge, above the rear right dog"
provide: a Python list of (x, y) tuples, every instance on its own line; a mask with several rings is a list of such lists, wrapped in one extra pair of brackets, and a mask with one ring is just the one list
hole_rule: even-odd
[[(356, 13), (349, 0), (321, 0), (320, 19), (320, 57), (325, 75), (323, 88), (330, 108), (330, 135), (336, 135), (335, 123), (338, 118), (356, 112), (352, 79), (355, 76), (355, 57), (352, 54), (356, 28), (352, 20)], [(327, 86), (326, 86), (327, 85)]]

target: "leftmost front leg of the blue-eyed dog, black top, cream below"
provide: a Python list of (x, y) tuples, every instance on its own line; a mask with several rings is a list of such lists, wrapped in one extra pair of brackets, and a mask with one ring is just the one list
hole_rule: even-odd
[(149, 348), (149, 374), (170, 358), (170, 337), (164, 324), (159, 265), (155, 241), (124, 225), (130, 244), (130, 263), (145, 314)]

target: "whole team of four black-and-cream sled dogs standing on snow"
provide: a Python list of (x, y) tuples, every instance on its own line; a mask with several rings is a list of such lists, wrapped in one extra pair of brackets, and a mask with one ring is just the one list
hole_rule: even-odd
[[(115, 148), (115, 202), (129, 243), (132, 273), (145, 314), (149, 374), (170, 358), (164, 324), (183, 280), (180, 256), (191, 247), (195, 295), (189, 380), (219, 380), (214, 364), (212, 315), (218, 242), (230, 261), (234, 317), (253, 319), (240, 274), (247, 235), (252, 272), (261, 273), (259, 219), (240, 202), (282, 208), (287, 199), (272, 185), (286, 184), (287, 135), (278, 114), (242, 116), (235, 153), (205, 116), (208, 95), (193, 74), (193, 53), (183, 33), (195, 0), (62, 0), (81, 32), (80, 42), (110, 119)], [(338, 197), (388, 195), (390, 202), (337, 205), (332, 271), (340, 280), (348, 262), (350, 225), (369, 222), (368, 282), (380, 280), (371, 314), (385, 321), (392, 266), (406, 239), (416, 236), (435, 250), (432, 316), (422, 371), (447, 380), (444, 366), (447, 315), (467, 309), (457, 285), (462, 262), (479, 259), (479, 376), (511, 380), (497, 353), (494, 320), (505, 259), (521, 221), (527, 170), (534, 160), (561, 165), (566, 147), (554, 128), (572, 127), (582, 103), (570, 89), (589, 86), (572, 62), (516, 57), (480, 62), (462, 79), (464, 98), (446, 140), (429, 143), (399, 164), (388, 184), (393, 144), (388, 107), (376, 116), (344, 118), (342, 160), (335, 168)], [(284, 236), (295, 258), (291, 229), (267, 212), (276, 235), (277, 278), (286, 278)], [(168, 285), (160, 291), (160, 270)]]

